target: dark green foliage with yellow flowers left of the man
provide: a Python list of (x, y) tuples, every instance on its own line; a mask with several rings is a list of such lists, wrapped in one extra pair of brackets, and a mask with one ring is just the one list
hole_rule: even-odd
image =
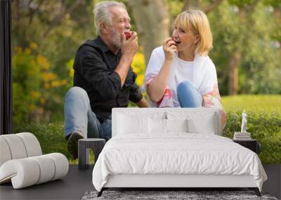
[[(81, 1), (79, 5), (75, 2), (12, 2), (15, 126), (19, 121), (63, 118), (64, 95), (72, 86), (70, 63), (79, 44), (93, 39), (96, 32), (92, 13), (94, 1)], [(36, 44), (30, 55), (15, 51), (30, 50), (30, 44)], [(48, 67), (41, 66), (42, 62), (46, 62)], [(30, 72), (34, 74), (27, 76)], [(23, 93), (22, 85), (27, 85)]]

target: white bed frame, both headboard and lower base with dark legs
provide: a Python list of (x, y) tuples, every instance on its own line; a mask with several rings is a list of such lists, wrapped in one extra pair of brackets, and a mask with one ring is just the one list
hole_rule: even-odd
[[(157, 108), (155, 108), (157, 109)], [(196, 112), (202, 111), (203, 108), (181, 108), (182, 110)], [(152, 108), (114, 108), (112, 109), (112, 137), (117, 129), (117, 112), (143, 112), (143, 114), (150, 114)], [(158, 111), (160, 109), (157, 109)], [(164, 108), (162, 112), (175, 111), (176, 108)], [(204, 108), (207, 112), (214, 112), (216, 114), (216, 123), (221, 127), (221, 114), (219, 108)], [(221, 135), (221, 131), (217, 132)], [(98, 196), (103, 194), (103, 191), (110, 188), (163, 188), (166, 190), (173, 190), (178, 188), (241, 188), (246, 187), (254, 190), (257, 196), (261, 196), (259, 188), (254, 182), (252, 175), (178, 175), (178, 174), (119, 174), (109, 175), (106, 184), (98, 192)]]

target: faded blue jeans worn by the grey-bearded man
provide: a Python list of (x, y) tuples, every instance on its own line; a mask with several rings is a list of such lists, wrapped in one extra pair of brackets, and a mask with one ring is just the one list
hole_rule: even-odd
[(80, 132), (84, 138), (103, 138), (109, 140), (111, 116), (102, 124), (92, 111), (89, 96), (83, 88), (72, 87), (65, 95), (65, 137)]

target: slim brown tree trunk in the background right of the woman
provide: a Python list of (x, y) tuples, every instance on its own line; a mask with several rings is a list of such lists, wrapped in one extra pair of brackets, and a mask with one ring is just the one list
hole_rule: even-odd
[(237, 95), (238, 88), (238, 67), (241, 61), (240, 51), (235, 51), (231, 55), (230, 62), (228, 64), (228, 94)]

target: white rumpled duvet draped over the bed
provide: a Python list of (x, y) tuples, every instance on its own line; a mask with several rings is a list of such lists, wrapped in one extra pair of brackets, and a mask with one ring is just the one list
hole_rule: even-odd
[(267, 180), (259, 156), (219, 135), (169, 133), (117, 135), (110, 139), (93, 168), (93, 186), (108, 175), (211, 174), (253, 175), (261, 191)]

